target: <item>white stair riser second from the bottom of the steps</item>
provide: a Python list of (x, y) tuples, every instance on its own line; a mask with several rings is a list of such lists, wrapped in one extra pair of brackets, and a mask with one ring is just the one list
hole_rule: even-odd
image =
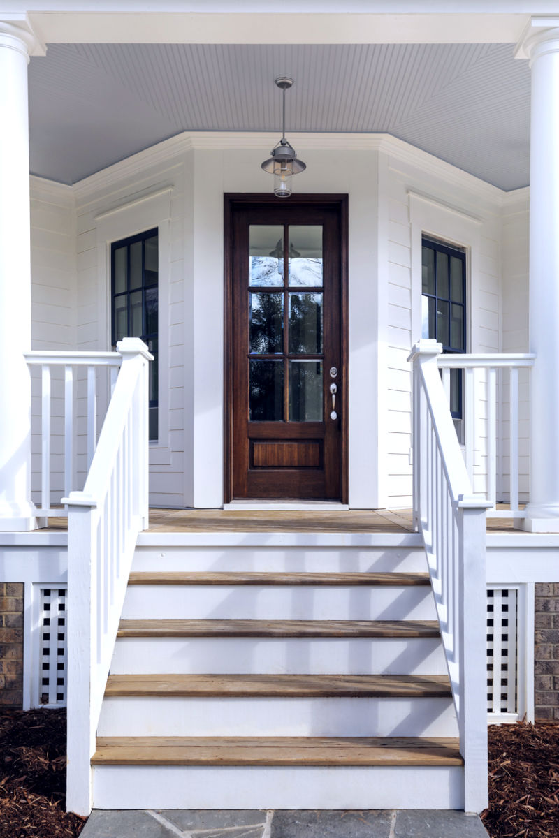
[(106, 698), (98, 736), (455, 737), (450, 698)]

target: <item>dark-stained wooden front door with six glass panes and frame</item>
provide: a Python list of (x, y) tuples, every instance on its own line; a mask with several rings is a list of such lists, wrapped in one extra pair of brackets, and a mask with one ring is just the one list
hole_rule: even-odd
[(345, 200), (227, 196), (229, 499), (344, 500)]

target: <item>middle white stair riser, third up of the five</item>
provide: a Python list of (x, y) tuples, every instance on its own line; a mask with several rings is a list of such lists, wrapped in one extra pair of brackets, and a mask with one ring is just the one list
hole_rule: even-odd
[(440, 639), (120, 638), (113, 674), (446, 675)]

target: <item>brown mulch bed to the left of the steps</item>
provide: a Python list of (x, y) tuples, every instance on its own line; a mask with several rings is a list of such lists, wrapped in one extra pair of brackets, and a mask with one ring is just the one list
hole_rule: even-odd
[(85, 818), (65, 812), (65, 710), (0, 715), (0, 838), (76, 838)]

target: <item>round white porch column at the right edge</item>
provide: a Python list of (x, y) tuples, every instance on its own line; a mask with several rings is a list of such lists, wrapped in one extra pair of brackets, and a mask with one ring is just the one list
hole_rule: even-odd
[(559, 18), (532, 18), (516, 56), (531, 66), (530, 504), (524, 527), (559, 531)]

